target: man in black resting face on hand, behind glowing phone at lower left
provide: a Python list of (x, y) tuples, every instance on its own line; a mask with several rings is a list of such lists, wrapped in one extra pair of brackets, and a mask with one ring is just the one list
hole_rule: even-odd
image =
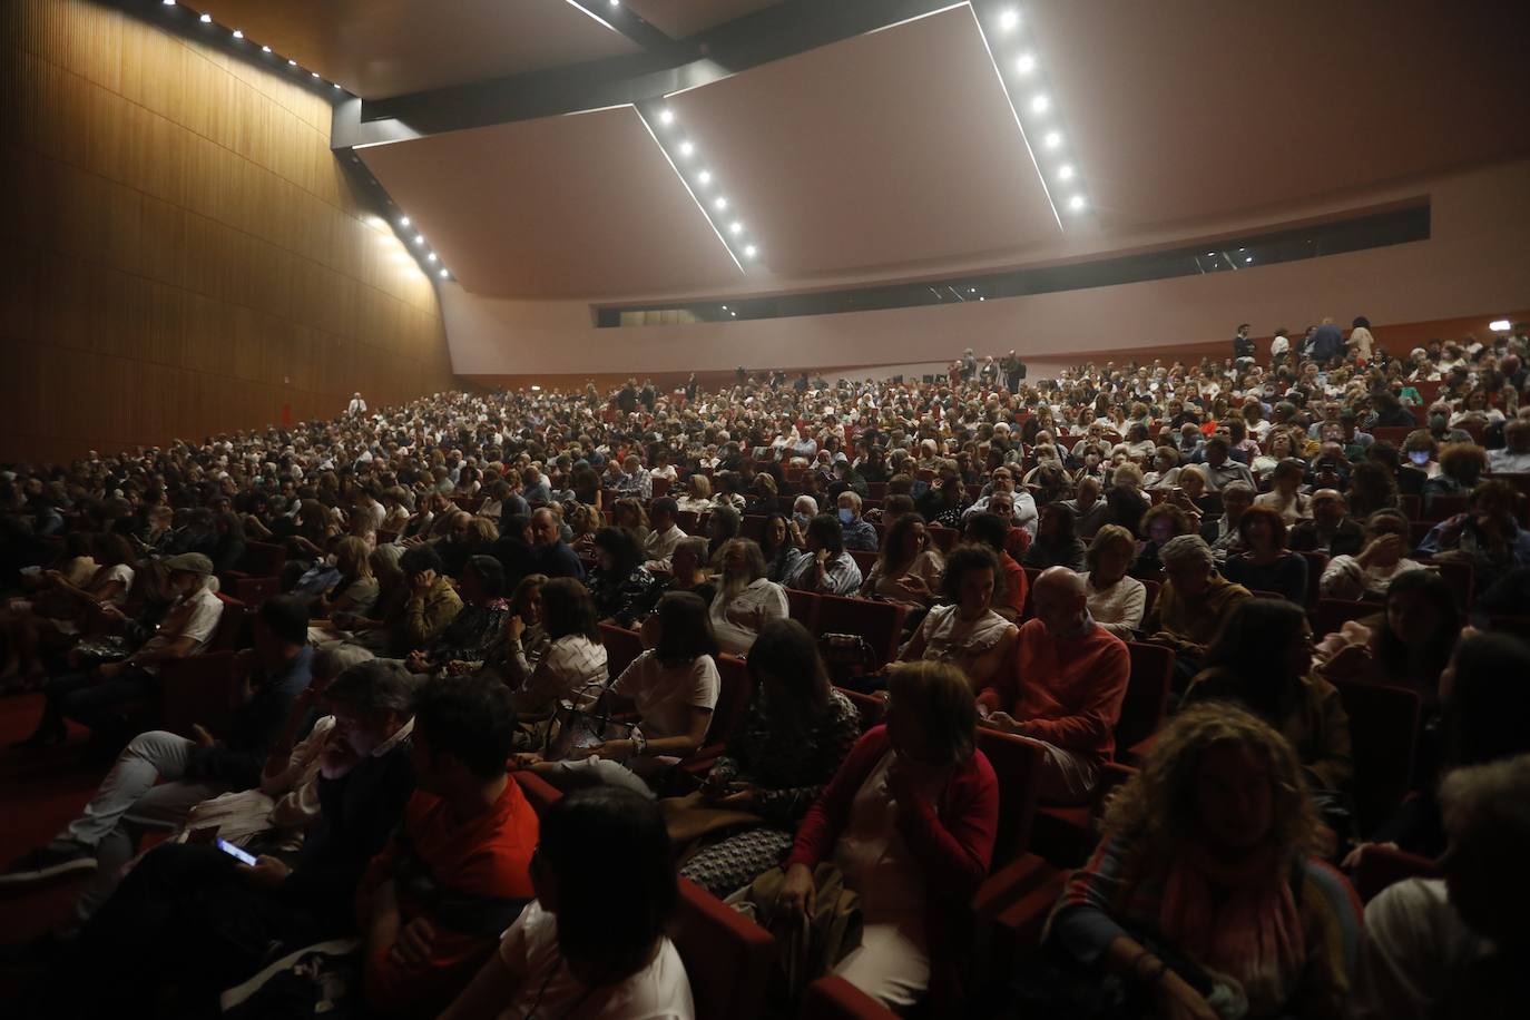
[(320, 815), (303, 849), (251, 866), (208, 843), (155, 847), (61, 960), (55, 1014), (153, 1015), (171, 986), (179, 1015), (216, 1014), (219, 992), (271, 960), (355, 931), (361, 875), (415, 791), (415, 691), (398, 662), (335, 677), (324, 691), (335, 726), (320, 765)]

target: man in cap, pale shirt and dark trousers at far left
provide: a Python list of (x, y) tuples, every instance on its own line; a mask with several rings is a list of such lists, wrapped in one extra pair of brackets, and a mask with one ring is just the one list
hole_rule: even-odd
[(116, 710), (158, 693), (161, 662), (196, 655), (213, 639), (223, 616), (223, 603), (207, 587), (213, 561), (200, 552), (184, 552), (165, 558), (161, 566), (168, 570), (167, 586), (176, 593), (176, 601), (159, 622), (159, 630), (121, 662), (106, 662), (89, 673), (49, 681), (43, 688), (43, 719), (23, 746), (63, 743), (67, 736), (64, 719), (90, 726), (103, 743), (122, 746), (132, 731), (125, 729), (127, 722)]

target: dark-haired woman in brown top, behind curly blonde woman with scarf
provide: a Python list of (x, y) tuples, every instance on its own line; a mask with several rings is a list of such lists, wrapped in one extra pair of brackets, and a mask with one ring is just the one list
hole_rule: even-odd
[(1235, 609), (1184, 693), (1183, 703), (1198, 700), (1238, 702), (1274, 726), (1310, 789), (1349, 786), (1349, 716), (1334, 685), (1313, 673), (1313, 632), (1299, 606), (1252, 598)]

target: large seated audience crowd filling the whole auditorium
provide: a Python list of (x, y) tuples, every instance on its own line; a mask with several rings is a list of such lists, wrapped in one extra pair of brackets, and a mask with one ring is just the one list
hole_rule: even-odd
[[(1379, 954), (1408, 947), (1359, 951), (1319, 858), (1516, 824), (1467, 807), (1516, 775), (1449, 791), (1527, 749), (1492, 716), (1530, 632), (1524, 353), (444, 393), (5, 465), (0, 681), (41, 691), (12, 752), (73, 722), (115, 763), (0, 885), (90, 873), (52, 965), (106, 980), (57, 1015), (112, 976), (144, 1008), (268, 994), (272, 948), (347, 936), (373, 1011), (690, 1015), (676, 864), (777, 933), (849, 896), (860, 940), (814, 973), (939, 1011), (1004, 846), (1002, 739), (1060, 820), (1131, 777), (1048, 927), (1076, 982), (1339, 1015), (1356, 980), (1397, 994)], [(820, 655), (846, 601), (898, 622), (854, 676)], [(167, 674), (240, 647), (226, 720), (155, 725)], [(1167, 717), (1126, 748), (1138, 659), (1167, 664)], [(1356, 684), (1418, 703), (1388, 818), (1356, 814)], [(517, 769), (565, 791), (540, 846)], [(153, 829), (179, 835), (135, 861)], [(626, 884), (586, 902), (597, 867)], [(1472, 953), (1509, 945), (1457, 907)]]

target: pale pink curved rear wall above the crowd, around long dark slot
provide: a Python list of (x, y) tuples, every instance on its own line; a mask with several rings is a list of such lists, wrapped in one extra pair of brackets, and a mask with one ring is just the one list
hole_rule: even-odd
[[(1039, 375), (1091, 352), (1230, 339), (1239, 321), (1256, 335), (1331, 315), (1366, 315), (1385, 343), (1388, 323), (1444, 320), (1530, 304), (1530, 159), (1431, 180), (1339, 196), (1238, 222), (1186, 225), (1132, 237), (1068, 237), (1042, 261), (1226, 237), (1420, 194), (1432, 237), (1346, 255), (1209, 277), (1178, 277), (984, 303), (851, 312), (745, 323), (595, 329), (584, 301), (488, 300), (442, 287), (459, 376), (586, 372), (715, 372), (737, 364), (926, 365), (964, 347), (1014, 347)], [(1085, 251), (1088, 249), (1088, 251)], [(970, 265), (961, 266), (972, 271)], [(1486, 323), (1484, 323), (1486, 327)]]

